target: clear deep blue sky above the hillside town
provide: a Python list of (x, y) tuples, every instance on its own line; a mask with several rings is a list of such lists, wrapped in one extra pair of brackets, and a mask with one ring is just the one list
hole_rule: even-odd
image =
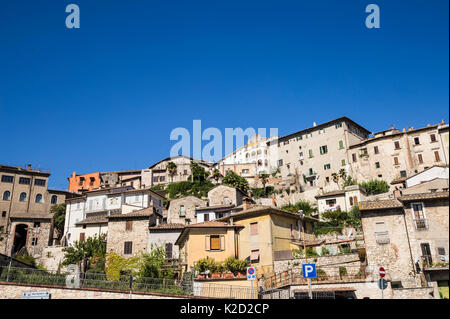
[[(76, 3), (81, 28), (65, 27)], [(367, 29), (376, 3), (381, 28)], [(449, 111), (448, 1), (0, 3), (0, 163), (148, 167), (175, 127), (278, 127), (348, 116), (371, 131)]]

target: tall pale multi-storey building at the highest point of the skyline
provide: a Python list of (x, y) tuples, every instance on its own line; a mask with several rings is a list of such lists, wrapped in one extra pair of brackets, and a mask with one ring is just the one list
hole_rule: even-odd
[(314, 122), (310, 128), (268, 142), (270, 166), (279, 169), (281, 178), (288, 182), (287, 188), (316, 193), (317, 189), (337, 190), (331, 174), (345, 169), (351, 175), (347, 150), (369, 134), (347, 117), (319, 125)]

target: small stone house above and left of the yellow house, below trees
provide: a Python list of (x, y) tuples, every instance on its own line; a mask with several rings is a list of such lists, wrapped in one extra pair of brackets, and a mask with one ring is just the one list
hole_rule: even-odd
[(172, 199), (167, 210), (168, 224), (191, 224), (197, 222), (195, 210), (206, 207), (206, 201), (189, 195)]

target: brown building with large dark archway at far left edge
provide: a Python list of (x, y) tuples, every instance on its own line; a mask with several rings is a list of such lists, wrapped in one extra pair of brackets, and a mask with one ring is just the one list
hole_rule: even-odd
[(0, 250), (38, 254), (53, 243), (50, 207), (73, 194), (48, 189), (49, 172), (0, 165)]

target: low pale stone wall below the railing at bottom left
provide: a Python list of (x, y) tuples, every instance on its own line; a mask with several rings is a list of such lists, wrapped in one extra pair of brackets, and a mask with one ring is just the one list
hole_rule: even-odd
[[(0, 299), (21, 299), (24, 292), (47, 291), (51, 299), (130, 299), (129, 292), (104, 291), (95, 288), (54, 288), (44, 285), (21, 285), (0, 282)], [(181, 299), (183, 295), (133, 292), (131, 299)]]

